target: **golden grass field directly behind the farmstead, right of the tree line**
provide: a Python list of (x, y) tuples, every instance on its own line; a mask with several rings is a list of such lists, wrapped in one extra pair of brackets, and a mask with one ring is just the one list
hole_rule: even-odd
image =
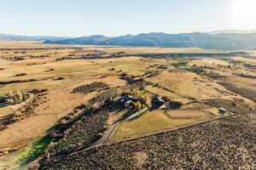
[(150, 77), (146, 80), (169, 88), (183, 98), (212, 99), (224, 96), (217, 90), (224, 90), (222, 86), (192, 72), (170, 73), (163, 71), (157, 77)]

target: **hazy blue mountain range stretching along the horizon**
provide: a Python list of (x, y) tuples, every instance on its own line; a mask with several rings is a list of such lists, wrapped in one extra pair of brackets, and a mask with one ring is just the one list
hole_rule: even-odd
[[(236, 32), (236, 33), (233, 33)], [(218, 50), (238, 50), (256, 48), (256, 33), (253, 31), (215, 31), (167, 34), (152, 32), (148, 34), (105, 37), (25, 37), (0, 34), (0, 39), (12, 41), (44, 41), (55, 44), (83, 44), (131, 47), (160, 48), (205, 48)]]

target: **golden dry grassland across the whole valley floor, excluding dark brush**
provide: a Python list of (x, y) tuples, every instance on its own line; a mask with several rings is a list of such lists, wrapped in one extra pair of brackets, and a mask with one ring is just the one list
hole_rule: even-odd
[[(119, 55), (120, 53), (132, 54), (132, 56)], [(61, 133), (60, 138), (68, 140), (67, 136), (71, 134), (79, 141), (78, 136), (84, 133), (83, 126), (87, 126), (82, 123), (87, 119), (82, 117), (89, 116), (95, 121), (90, 123), (96, 123), (99, 128), (90, 127), (92, 132), (86, 131), (86, 133), (92, 139), (87, 140), (98, 139), (114, 122), (130, 111), (129, 108), (121, 111), (115, 108), (116, 110), (112, 111), (112, 106), (108, 107), (105, 103), (114, 100), (115, 93), (118, 94), (120, 89), (137, 87), (141, 85), (139, 83), (146, 85), (143, 85), (141, 91), (135, 90), (137, 97), (144, 98), (146, 94), (150, 94), (151, 97), (166, 97), (170, 102), (179, 102), (181, 108), (164, 111), (157, 108), (132, 121), (123, 120), (104, 143), (115, 144), (120, 140), (124, 142), (126, 139), (136, 140), (199, 122), (211, 122), (220, 115), (219, 107), (205, 105), (209, 99), (216, 101), (226, 99), (234, 104), (234, 107), (243, 105), (247, 109), (256, 106), (254, 98), (256, 59), (242, 56), (207, 59), (194, 57), (156, 59), (137, 56), (137, 54), (170, 53), (220, 52), (199, 48), (125, 48), (1, 41), (0, 102), (2, 97), (7, 98), (12, 94), (11, 92), (37, 91), (38, 94), (34, 96), (41, 95), (41, 90), (44, 93), (38, 99), (32, 100), (32, 103), (7, 106), (0, 103), (0, 123), (7, 124), (6, 126), (4, 124), (3, 129), (0, 128), (0, 169), (10, 170), (19, 167), (20, 160), (31, 156), (30, 150), (33, 150), (34, 145), (37, 144), (40, 146), (37, 156), (42, 156), (52, 142), (47, 138), (49, 131), (55, 130), (54, 127), (64, 124), (61, 130), (57, 129), (61, 131), (58, 132)], [(95, 91), (84, 94), (73, 93), (74, 88), (92, 82), (103, 82), (108, 88), (96, 88)], [(132, 88), (131, 92), (134, 93)], [(91, 101), (96, 99), (102, 100), (91, 104)], [(101, 110), (100, 104), (104, 111)], [(90, 116), (94, 111), (90, 114), (86, 112), (90, 105), (95, 107), (96, 113), (103, 112), (105, 115)], [(233, 114), (230, 113), (228, 111), (227, 115)], [(15, 116), (12, 117), (13, 115)], [(74, 129), (79, 130), (74, 133)], [(46, 141), (42, 140), (45, 136)], [(55, 136), (59, 137), (56, 134)], [(83, 143), (86, 144), (85, 141), (79, 141), (79, 144)]]

